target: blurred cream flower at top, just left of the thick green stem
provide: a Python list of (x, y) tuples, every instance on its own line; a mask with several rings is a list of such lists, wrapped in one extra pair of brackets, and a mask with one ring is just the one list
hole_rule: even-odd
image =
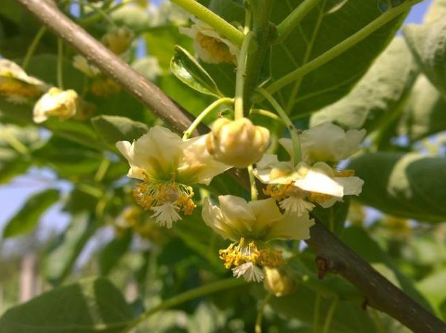
[(207, 23), (192, 17), (191, 27), (180, 27), (180, 32), (194, 39), (195, 54), (206, 63), (237, 63), (240, 49), (222, 37)]

